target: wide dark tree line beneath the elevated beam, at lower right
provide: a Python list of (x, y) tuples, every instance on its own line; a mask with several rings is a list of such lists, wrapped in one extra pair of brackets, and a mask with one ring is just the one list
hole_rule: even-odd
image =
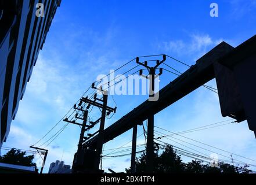
[[(145, 173), (146, 153), (136, 158), (135, 166), (135, 173)], [(154, 173), (251, 173), (248, 167), (248, 165), (233, 166), (224, 162), (219, 162), (218, 167), (211, 167), (200, 160), (185, 163), (171, 145), (166, 145), (160, 155), (158, 151), (154, 153)], [(125, 171), (131, 173), (130, 168)]]

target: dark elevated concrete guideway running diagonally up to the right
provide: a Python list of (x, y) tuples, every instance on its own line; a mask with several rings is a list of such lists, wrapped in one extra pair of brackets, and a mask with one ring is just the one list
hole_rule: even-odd
[[(120, 120), (116, 121), (116, 123), (113, 123), (110, 127), (104, 129), (103, 143), (109, 142), (109, 140), (134, 128), (135, 125), (141, 124), (142, 121), (148, 119), (150, 114), (160, 112), (215, 77), (217, 78), (222, 116), (232, 117), (238, 122), (248, 120), (250, 129), (256, 131), (256, 124), (254, 122), (256, 99), (255, 97), (252, 97), (253, 93), (254, 95), (256, 94), (255, 87), (250, 88), (250, 92), (248, 92), (248, 88), (245, 85), (246, 80), (248, 79), (251, 79), (251, 82), (253, 83), (253, 78), (248, 77), (253, 74), (246, 75), (240, 79), (240, 77), (246, 73), (244, 70), (247, 68), (250, 68), (251, 73), (255, 71), (255, 53), (256, 36), (236, 48), (225, 42), (220, 43), (197, 60), (196, 64), (191, 66), (181, 76), (162, 88), (159, 91), (158, 101), (143, 102)], [(250, 61), (247, 62), (248, 57)], [(239, 67), (236, 67), (240, 63), (243, 64), (243, 71), (241, 71)], [(233, 68), (235, 68), (236, 71), (234, 71)], [(219, 71), (222, 72), (221, 75), (219, 75)], [(237, 88), (233, 88), (234, 86)], [(240, 90), (241, 88), (244, 89)], [(250, 95), (251, 97), (248, 98), (247, 95)], [(228, 99), (228, 101), (225, 101), (225, 99)], [(233, 105), (236, 105), (235, 108), (233, 108)], [(246, 107), (244, 107), (244, 105), (246, 105)], [(84, 143), (84, 148), (95, 149), (97, 140), (98, 135), (86, 141)]]

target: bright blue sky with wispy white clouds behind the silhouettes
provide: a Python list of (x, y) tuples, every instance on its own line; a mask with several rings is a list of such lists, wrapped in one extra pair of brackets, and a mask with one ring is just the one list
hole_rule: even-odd
[[(12, 122), (8, 140), (3, 146), (28, 149), (64, 116), (98, 75), (107, 74), (110, 69), (116, 69), (132, 58), (165, 53), (193, 65), (198, 58), (222, 40), (235, 47), (255, 35), (256, 1), (214, 1), (219, 5), (219, 17), (215, 18), (210, 17), (212, 2), (205, 0), (62, 1), (53, 19), (44, 49), (39, 54), (33, 76), (27, 84), (26, 93), (20, 102), (16, 120)], [(179, 71), (188, 69), (172, 60), (167, 60), (167, 63)], [(134, 62), (117, 74), (135, 65)], [(174, 75), (164, 72), (160, 87), (164, 87), (173, 79), (175, 79)], [(216, 87), (215, 80), (208, 85)], [(147, 96), (114, 95), (117, 113), (111, 120), (106, 121), (106, 127), (146, 98)], [(109, 105), (115, 106), (112, 98), (109, 98)], [(99, 112), (95, 110), (90, 117), (97, 119)], [(218, 95), (201, 87), (156, 114), (155, 120), (155, 124), (159, 127), (180, 132), (229, 118), (221, 116)], [(51, 138), (63, 125), (64, 123), (57, 125), (37, 146)], [(48, 146), (49, 156), (44, 172), (48, 172), (51, 162), (60, 160), (62, 156), (66, 164), (72, 163), (79, 134), (79, 127), (68, 125)], [(140, 127), (139, 134), (142, 134)], [(246, 121), (183, 134), (183, 136), (244, 157), (256, 156), (254, 133), (248, 129)], [(175, 137), (200, 145), (186, 138)], [(122, 146), (131, 139), (132, 132), (128, 131), (107, 143), (104, 149)], [(144, 143), (144, 140), (141, 136), (138, 138), (138, 144)], [(163, 141), (183, 147), (171, 140), (163, 139)], [(178, 140), (176, 142), (182, 143)], [(131, 143), (126, 146), (129, 145)], [(208, 156), (212, 153), (188, 143), (183, 145), (204, 152)], [(229, 153), (217, 149), (204, 145), (202, 147), (230, 156)], [(107, 150), (106, 153), (109, 151)], [(255, 161), (233, 157), (256, 164)], [(40, 160), (37, 156), (38, 165)], [(184, 157), (183, 160), (192, 159)], [(121, 172), (128, 166), (129, 156), (103, 160), (103, 168), (106, 170), (111, 168)]]

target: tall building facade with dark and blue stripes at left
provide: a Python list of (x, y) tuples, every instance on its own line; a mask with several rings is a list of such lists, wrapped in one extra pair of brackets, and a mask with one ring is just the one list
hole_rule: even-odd
[[(0, 0), (0, 148), (61, 0)], [(44, 17), (36, 5), (44, 5)]]

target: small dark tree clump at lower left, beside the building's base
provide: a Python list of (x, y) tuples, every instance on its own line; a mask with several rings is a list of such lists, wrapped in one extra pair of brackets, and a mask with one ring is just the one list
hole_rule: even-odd
[(26, 156), (26, 155), (27, 155), (26, 151), (12, 149), (2, 157), (0, 156), (0, 162), (6, 163), (6, 164), (37, 167), (37, 165), (34, 162), (32, 162), (34, 159), (34, 155), (32, 156)]

